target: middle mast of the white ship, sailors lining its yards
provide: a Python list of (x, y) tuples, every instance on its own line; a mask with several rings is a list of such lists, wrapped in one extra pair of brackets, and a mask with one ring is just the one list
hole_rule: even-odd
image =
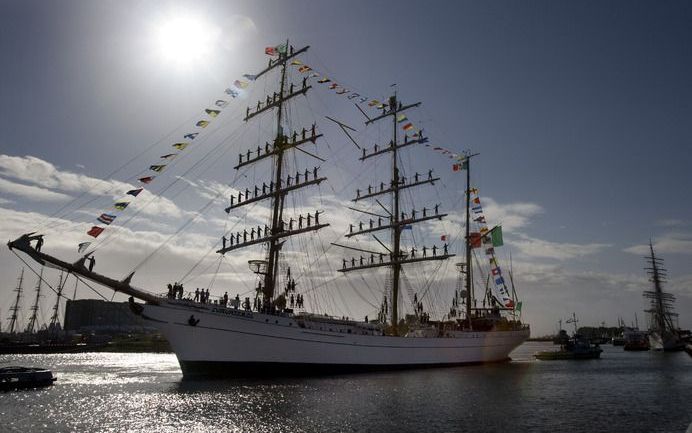
[[(398, 130), (398, 122), (399, 119), (397, 116), (399, 113), (403, 113), (404, 111), (408, 110), (409, 108), (414, 108), (418, 107), (420, 105), (420, 102), (416, 102), (414, 104), (410, 105), (403, 105), (401, 102), (397, 100), (396, 93), (389, 98), (388, 104), (385, 104), (382, 108), (382, 114), (379, 116), (376, 116), (374, 118), (369, 118), (365, 124), (369, 125), (371, 123), (377, 122), (382, 119), (386, 119), (388, 117), (392, 118), (392, 140), (389, 142), (388, 145), (385, 146), (380, 146), (378, 147), (375, 145), (370, 151), (368, 149), (363, 149), (363, 155), (359, 158), (361, 161), (365, 161), (366, 159), (384, 155), (387, 153), (391, 153), (391, 158), (392, 158), (392, 171), (391, 171), (391, 179), (387, 182), (388, 185), (385, 184), (385, 182), (381, 182), (379, 185), (379, 188), (377, 185), (374, 187), (372, 185), (369, 185), (367, 187), (367, 192), (361, 194), (361, 190), (358, 189), (356, 191), (356, 197), (353, 199), (354, 202), (358, 202), (360, 200), (368, 199), (368, 198), (373, 198), (375, 202), (380, 205), (385, 212), (387, 213), (386, 216), (384, 216), (384, 224), (382, 223), (383, 217), (378, 217), (377, 224), (375, 224), (375, 221), (373, 219), (370, 219), (368, 222), (368, 225), (364, 228), (363, 227), (363, 222), (358, 223), (358, 227), (356, 230), (354, 230), (354, 226), (351, 225), (351, 228), (349, 230), (349, 233), (346, 235), (346, 237), (352, 237), (352, 236), (357, 236), (357, 235), (363, 235), (363, 234), (368, 234), (368, 233), (374, 233), (376, 231), (380, 230), (389, 230), (390, 235), (391, 235), (391, 244), (390, 247), (387, 247), (384, 245), (374, 234), (373, 237), (382, 245), (388, 253), (388, 260), (385, 260), (386, 254), (384, 253), (376, 253), (376, 252), (371, 252), (370, 258), (368, 260), (367, 257), (365, 257), (365, 260), (363, 256), (360, 257), (358, 263), (356, 263), (355, 258), (351, 259), (351, 266), (347, 267), (347, 260), (344, 259), (343, 262), (343, 267), (342, 269), (339, 270), (339, 272), (351, 272), (351, 271), (356, 271), (356, 270), (361, 270), (361, 269), (369, 269), (369, 268), (377, 268), (377, 267), (389, 267), (390, 272), (392, 275), (391, 278), (391, 305), (392, 305), (392, 315), (391, 315), (391, 324), (392, 324), (392, 332), (394, 335), (398, 335), (398, 324), (399, 324), (399, 288), (400, 288), (400, 280), (401, 280), (401, 270), (402, 270), (402, 265), (408, 264), (408, 263), (416, 263), (416, 262), (421, 262), (421, 261), (429, 261), (429, 260), (445, 260), (449, 257), (454, 256), (454, 254), (449, 254), (447, 251), (447, 245), (445, 244), (443, 251), (441, 251), (441, 254), (437, 254), (437, 246), (433, 246), (433, 248), (428, 248), (428, 247), (423, 247), (422, 248), (422, 253), (419, 253), (418, 256), (416, 256), (416, 249), (415, 247), (411, 249), (410, 254), (408, 254), (406, 251), (402, 251), (401, 249), (401, 232), (404, 229), (405, 226), (410, 226), (422, 221), (427, 221), (430, 219), (442, 219), (445, 217), (447, 214), (440, 214), (439, 213), (439, 205), (435, 205), (432, 209), (428, 208), (423, 208), (422, 211), (416, 212), (415, 209), (412, 209), (410, 213), (406, 213), (401, 211), (401, 203), (400, 203), (400, 193), (402, 190), (412, 188), (412, 187), (417, 187), (425, 184), (434, 184), (435, 181), (440, 180), (439, 177), (433, 177), (433, 171), (429, 170), (427, 177), (424, 175), (419, 175), (416, 173), (414, 176), (411, 176), (408, 181), (405, 176), (401, 176), (401, 173), (399, 171), (399, 165), (398, 165), (398, 158), (399, 158), (399, 150), (403, 147), (407, 147), (413, 144), (419, 144), (419, 143), (426, 143), (428, 141), (427, 138), (423, 137), (423, 132), (422, 130), (418, 133), (417, 138), (413, 139), (410, 138), (408, 135), (404, 135), (404, 140), (399, 141), (399, 138), (397, 136), (397, 130)], [(376, 199), (376, 197), (384, 194), (390, 194), (391, 195), (391, 210), (387, 209)], [(364, 213), (369, 213), (369, 212), (364, 212)], [(369, 213), (371, 214), (371, 213)], [(422, 216), (419, 216), (422, 215)], [(387, 221), (388, 219), (388, 221)], [(427, 250), (431, 250), (432, 254), (427, 255)], [(376, 260), (377, 257), (377, 260)]]

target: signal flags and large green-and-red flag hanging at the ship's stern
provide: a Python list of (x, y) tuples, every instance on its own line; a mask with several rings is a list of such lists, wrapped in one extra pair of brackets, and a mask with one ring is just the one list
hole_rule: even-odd
[[(473, 221), (478, 224), (478, 232), (469, 235), (471, 248), (485, 248), (485, 255), (490, 264), (490, 273), (493, 284), (495, 285), (496, 293), (500, 295), (500, 301), (506, 308), (515, 308), (514, 300), (509, 294), (507, 284), (502, 276), (502, 269), (495, 258), (495, 247), (504, 245), (502, 239), (502, 226), (496, 226), (492, 229), (488, 228), (488, 224), (483, 214), (483, 206), (477, 188), (471, 188), (471, 211), (473, 212)], [(517, 306), (519, 308), (519, 306)]]

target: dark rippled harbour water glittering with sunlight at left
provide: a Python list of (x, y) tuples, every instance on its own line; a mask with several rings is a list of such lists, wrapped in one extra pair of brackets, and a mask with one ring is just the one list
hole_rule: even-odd
[[(0, 393), (2, 432), (685, 432), (692, 358), (625, 353), (350, 376), (182, 381), (174, 355), (0, 356), (44, 366), (44, 390)], [(692, 429), (690, 430), (692, 432)]]

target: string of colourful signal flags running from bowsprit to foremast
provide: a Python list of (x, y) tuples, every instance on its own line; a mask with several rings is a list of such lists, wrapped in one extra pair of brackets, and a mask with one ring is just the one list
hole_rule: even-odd
[[(247, 89), (250, 86), (249, 81), (253, 81), (255, 79), (255, 76), (250, 74), (244, 74), (243, 78), (245, 78), (246, 80), (238, 79), (233, 81), (233, 84), (229, 86), (226, 90), (224, 90), (224, 94), (226, 96), (216, 99), (214, 101), (212, 108), (206, 108), (204, 110), (204, 115), (206, 117), (198, 120), (195, 123), (195, 127), (199, 129), (204, 129), (207, 126), (209, 126), (210, 122), (217, 116), (219, 116), (219, 114), (221, 114), (221, 111), (229, 104), (230, 101), (228, 100), (228, 98), (235, 99), (241, 96), (245, 89)], [(153, 173), (148, 176), (140, 177), (139, 179), (137, 179), (137, 181), (141, 185), (145, 186), (151, 184), (156, 179), (157, 175), (163, 173), (166, 170), (170, 161), (175, 159), (180, 154), (180, 152), (184, 151), (188, 146), (190, 146), (191, 142), (195, 138), (197, 138), (197, 136), (200, 133), (201, 131), (196, 130), (183, 135), (184, 141), (173, 143), (171, 145), (171, 147), (174, 149), (174, 152), (161, 155), (159, 157), (160, 161), (158, 161), (156, 164), (149, 165), (149, 171)], [(141, 186), (139, 188), (127, 191), (125, 195), (137, 197), (143, 190), (144, 186)], [(130, 203), (133, 200), (131, 197), (124, 197), (113, 203), (113, 209), (115, 211), (111, 210), (110, 213), (102, 213), (101, 215), (99, 215), (96, 218), (95, 223), (93, 223), (93, 225), (91, 226), (91, 228), (87, 230), (86, 234), (88, 236), (91, 236), (92, 238), (98, 238), (99, 235), (104, 232), (106, 227), (111, 225), (113, 221), (115, 221), (115, 219), (118, 217), (118, 212), (124, 211), (130, 205)], [(77, 252), (83, 253), (84, 251), (86, 251), (87, 248), (89, 248), (91, 243), (91, 240), (85, 240), (83, 242), (80, 242), (77, 246)]]

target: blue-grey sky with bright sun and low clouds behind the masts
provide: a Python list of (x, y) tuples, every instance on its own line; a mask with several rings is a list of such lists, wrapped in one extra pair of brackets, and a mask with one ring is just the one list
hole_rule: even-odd
[[(572, 312), (584, 325), (615, 325), (619, 317), (631, 323), (636, 313), (643, 326), (650, 240), (666, 260), (680, 325), (692, 327), (689, 2), (0, 0), (0, 6), (5, 239), (42, 230), (45, 251), (76, 260), (76, 245), (88, 239), (95, 217), (111, 212), (171, 143), (195, 130), (234, 80), (266, 65), (264, 47), (289, 38), (296, 47), (310, 45), (306, 64), (351, 91), (384, 99), (396, 84), (404, 102), (421, 101), (408, 115), (431, 143), (480, 153), (473, 183), (488, 219), (503, 227), (501, 254), (511, 253), (523, 319), (534, 335), (554, 332)], [(300, 74), (292, 74), (299, 83)], [(347, 99), (311, 84), (288, 118), (295, 126), (317, 122), (324, 132), (325, 143), (311, 149), (327, 160), (317, 163), (329, 181), (296, 194), (291, 207), (296, 215), (325, 210), (331, 226), (297, 240), (293, 246), (306, 253), (287, 257), (301, 278), (310, 264), (319, 269), (299, 284), (311, 307), (372, 317), (383, 276), (338, 274), (341, 257), (350, 255), (329, 244), (342, 242), (348, 224), (362, 219), (344, 206), (356, 188), (378, 184), (387, 161), (357, 161), (358, 150), (324, 116), (353, 126), (367, 146), (388, 141), (391, 131), (366, 128)], [(213, 250), (223, 233), (265, 218), (262, 205), (230, 216), (223, 208), (230, 193), (266, 178), (267, 166), (242, 172), (233, 166), (239, 152), (275, 131), (271, 116), (241, 121), (245, 107), (271, 89), (269, 80), (251, 83), (118, 214), (99, 237), (97, 270), (117, 277), (136, 270), (133, 283), (152, 292), (176, 280), (211, 286), (216, 295), (252, 291), (246, 262), (261, 251), (218, 258)], [(461, 209), (463, 177), (451, 172), (449, 160), (424, 147), (402, 155), (413, 171), (445, 177), (405, 204)], [(289, 164), (317, 163), (298, 155)], [(440, 233), (461, 233), (459, 222), (450, 215), (406, 241), (439, 244)], [(372, 239), (357, 242), (376, 247)], [(428, 290), (431, 303), (446, 302), (456, 284), (450, 262), (438, 279), (426, 276), (438, 268), (416, 268), (410, 286)], [(22, 266), (0, 250), (3, 329)], [(36, 278), (27, 273), (28, 306)], [(70, 296), (73, 284), (67, 283)], [(80, 286), (76, 296), (99, 295)], [(46, 318), (52, 302), (52, 294), (42, 300)]]

